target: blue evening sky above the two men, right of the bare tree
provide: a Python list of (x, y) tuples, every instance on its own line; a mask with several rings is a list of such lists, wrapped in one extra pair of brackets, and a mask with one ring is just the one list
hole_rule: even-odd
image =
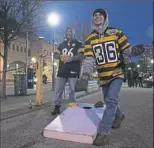
[[(103, 8), (109, 15), (109, 26), (118, 27), (128, 36), (132, 45), (151, 44), (153, 40), (153, 2), (149, 1), (64, 1), (46, 2), (41, 8), (44, 17), (43, 25), (46, 29), (38, 32), (45, 40), (52, 38), (47, 24), (50, 12), (60, 15), (60, 23), (56, 26), (56, 40), (60, 42), (67, 26), (79, 29), (88, 34), (91, 27), (91, 16), (96, 8)], [(78, 33), (78, 31), (77, 31)]]

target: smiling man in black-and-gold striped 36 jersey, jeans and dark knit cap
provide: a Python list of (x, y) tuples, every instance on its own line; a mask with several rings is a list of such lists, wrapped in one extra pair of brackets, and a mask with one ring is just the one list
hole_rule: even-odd
[(123, 65), (129, 62), (131, 56), (143, 53), (144, 49), (140, 46), (131, 47), (120, 29), (108, 27), (107, 12), (101, 8), (93, 13), (92, 27), (93, 31), (85, 40), (85, 60), (79, 81), (83, 84), (83, 81), (89, 79), (93, 63), (96, 62), (106, 110), (93, 144), (101, 146), (109, 143), (111, 128), (120, 127), (124, 119), (118, 105), (118, 96), (124, 79)]

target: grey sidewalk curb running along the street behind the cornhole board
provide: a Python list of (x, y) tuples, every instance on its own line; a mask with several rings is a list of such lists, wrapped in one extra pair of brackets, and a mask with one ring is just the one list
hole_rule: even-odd
[[(93, 90), (93, 91), (78, 95), (77, 99), (80, 99), (81, 97), (85, 97), (85, 96), (88, 96), (90, 94), (93, 94), (93, 93), (96, 93), (96, 92), (99, 92), (99, 91), (100, 90)], [(12, 118), (12, 117), (16, 117), (16, 116), (19, 116), (19, 115), (31, 113), (33, 111), (37, 111), (37, 110), (48, 108), (48, 107), (53, 108), (52, 101), (45, 102), (43, 106), (33, 106), (32, 109), (30, 109), (28, 107), (28, 102), (27, 102), (27, 106), (23, 106), (23, 107), (20, 107), (20, 108), (17, 108), (17, 109), (1, 112), (0, 121), (6, 120), (6, 119), (9, 119), (9, 118)]]

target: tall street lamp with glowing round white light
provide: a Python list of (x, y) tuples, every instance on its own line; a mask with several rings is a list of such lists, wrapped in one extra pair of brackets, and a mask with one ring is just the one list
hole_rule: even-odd
[[(60, 17), (57, 13), (52, 12), (48, 16), (48, 23), (53, 26), (52, 28), (52, 37), (53, 37), (53, 54), (55, 51), (55, 26), (57, 26), (60, 22)], [(52, 56), (53, 56), (52, 54)], [(52, 57), (52, 90), (55, 90), (55, 66), (54, 66), (54, 57)]]

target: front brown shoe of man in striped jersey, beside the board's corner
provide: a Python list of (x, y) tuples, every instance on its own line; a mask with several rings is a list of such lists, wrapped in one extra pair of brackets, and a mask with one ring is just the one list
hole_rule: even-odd
[(107, 145), (110, 142), (110, 135), (103, 135), (102, 133), (98, 133), (96, 139), (93, 142), (95, 146), (103, 146)]

